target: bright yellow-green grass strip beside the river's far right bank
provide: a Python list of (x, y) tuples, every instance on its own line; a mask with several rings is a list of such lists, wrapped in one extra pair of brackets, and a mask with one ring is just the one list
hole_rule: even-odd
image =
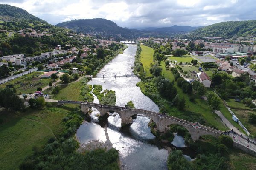
[(154, 49), (147, 47), (145, 45), (140, 45), (141, 54), (140, 54), (140, 62), (142, 63), (144, 70), (146, 72), (146, 77), (151, 77), (152, 74), (149, 73), (150, 64), (153, 62), (153, 54)]

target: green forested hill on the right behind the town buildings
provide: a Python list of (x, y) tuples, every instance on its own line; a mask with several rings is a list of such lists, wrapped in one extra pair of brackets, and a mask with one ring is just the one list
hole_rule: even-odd
[(199, 28), (190, 33), (196, 37), (244, 37), (256, 36), (256, 21), (228, 21)]

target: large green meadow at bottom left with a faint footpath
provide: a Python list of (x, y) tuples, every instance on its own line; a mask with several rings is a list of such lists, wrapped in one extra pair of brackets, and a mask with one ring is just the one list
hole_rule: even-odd
[(33, 147), (44, 147), (54, 137), (52, 132), (58, 136), (69, 110), (61, 106), (17, 114), (0, 112), (0, 169), (17, 170), (23, 159), (32, 154)]

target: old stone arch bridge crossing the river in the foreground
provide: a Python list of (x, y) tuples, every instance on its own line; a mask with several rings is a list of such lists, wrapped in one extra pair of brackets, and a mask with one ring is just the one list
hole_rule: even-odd
[(108, 113), (108, 111), (115, 111), (121, 117), (122, 125), (131, 124), (132, 123), (131, 116), (136, 114), (142, 114), (151, 118), (156, 123), (157, 128), (160, 132), (164, 132), (168, 125), (181, 125), (189, 131), (193, 141), (198, 140), (199, 137), (203, 135), (212, 135), (212, 136), (218, 137), (224, 134), (223, 131), (206, 127), (206, 126), (200, 125), (199, 123), (189, 122), (173, 116), (161, 116), (160, 113), (147, 111), (143, 109), (131, 109), (131, 108), (124, 108), (119, 106), (101, 105), (101, 104), (96, 104), (91, 102), (79, 102), (79, 101), (70, 101), (70, 100), (58, 101), (58, 105), (61, 105), (64, 103), (79, 104), (81, 105), (81, 110), (84, 113), (87, 113), (90, 110), (90, 108), (96, 108), (99, 111), (100, 116), (104, 116), (106, 113)]

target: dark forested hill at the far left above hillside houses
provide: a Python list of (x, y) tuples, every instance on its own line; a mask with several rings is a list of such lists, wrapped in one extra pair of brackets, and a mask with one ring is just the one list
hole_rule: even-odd
[(2, 21), (39, 21), (41, 23), (47, 23), (32, 14), (29, 14), (26, 10), (18, 8), (16, 6), (10, 6), (0, 4), (0, 20)]

